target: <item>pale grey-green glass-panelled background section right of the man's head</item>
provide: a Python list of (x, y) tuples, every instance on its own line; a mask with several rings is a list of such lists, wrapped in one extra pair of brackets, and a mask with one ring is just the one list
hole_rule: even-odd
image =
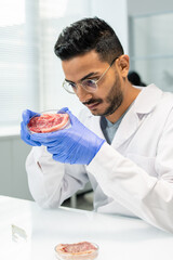
[(142, 80), (173, 91), (173, 1), (128, 0), (131, 70)]

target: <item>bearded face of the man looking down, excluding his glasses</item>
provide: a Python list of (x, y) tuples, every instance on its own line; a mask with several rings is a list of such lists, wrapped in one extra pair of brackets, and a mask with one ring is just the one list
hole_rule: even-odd
[[(108, 67), (108, 63), (101, 61), (95, 51), (63, 61), (62, 65), (66, 80), (74, 83), (79, 82), (86, 75), (90, 75), (90, 79), (97, 80)], [(76, 94), (93, 115), (111, 115), (123, 101), (121, 81), (116, 72), (116, 65), (114, 64), (102, 78), (94, 93), (85, 91), (79, 84)]]

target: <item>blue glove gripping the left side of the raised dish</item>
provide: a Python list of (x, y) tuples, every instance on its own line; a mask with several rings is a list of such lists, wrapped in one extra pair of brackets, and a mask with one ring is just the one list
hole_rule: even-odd
[(40, 146), (41, 143), (37, 141), (32, 141), (30, 139), (30, 133), (27, 130), (27, 123), (29, 122), (30, 118), (34, 117), (35, 115), (38, 115), (38, 113), (31, 112), (29, 109), (26, 109), (23, 112), (23, 121), (21, 122), (21, 139), (32, 146)]

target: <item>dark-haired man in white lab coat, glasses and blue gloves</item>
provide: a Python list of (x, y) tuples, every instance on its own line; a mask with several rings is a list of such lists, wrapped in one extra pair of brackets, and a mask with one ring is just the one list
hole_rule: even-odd
[(129, 82), (129, 56), (97, 17), (65, 28), (55, 53), (63, 87), (86, 108), (79, 119), (62, 109), (69, 129), (31, 135), (26, 125), (35, 113), (23, 113), (22, 139), (36, 146), (26, 161), (34, 198), (58, 207), (90, 181), (97, 212), (136, 216), (173, 232), (173, 95)]

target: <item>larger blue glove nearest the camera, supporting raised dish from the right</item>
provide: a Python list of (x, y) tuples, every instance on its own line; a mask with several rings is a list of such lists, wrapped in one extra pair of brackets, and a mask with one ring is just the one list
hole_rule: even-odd
[(70, 128), (51, 133), (34, 133), (30, 139), (45, 145), (54, 160), (89, 165), (105, 140), (84, 127), (68, 108), (62, 108), (62, 112), (69, 115)]

